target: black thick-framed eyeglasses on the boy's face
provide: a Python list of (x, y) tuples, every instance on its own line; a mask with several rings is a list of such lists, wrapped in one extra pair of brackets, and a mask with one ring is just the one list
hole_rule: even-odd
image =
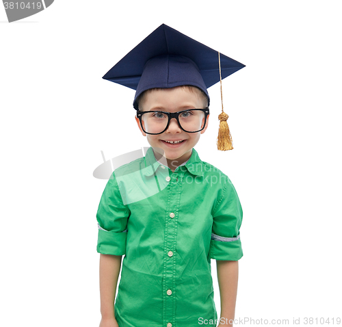
[(161, 134), (170, 125), (170, 120), (175, 118), (179, 127), (187, 133), (196, 133), (202, 131), (207, 123), (209, 107), (205, 109), (186, 109), (181, 112), (137, 112), (137, 118), (140, 120), (140, 126), (146, 134)]

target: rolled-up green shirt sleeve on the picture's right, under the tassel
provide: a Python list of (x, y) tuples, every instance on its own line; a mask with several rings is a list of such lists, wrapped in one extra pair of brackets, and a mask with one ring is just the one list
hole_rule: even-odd
[[(220, 197), (222, 194), (222, 197)], [(239, 229), (242, 208), (235, 187), (226, 176), (213, 210), (210, 259), (237, 261), (243, 256)]]

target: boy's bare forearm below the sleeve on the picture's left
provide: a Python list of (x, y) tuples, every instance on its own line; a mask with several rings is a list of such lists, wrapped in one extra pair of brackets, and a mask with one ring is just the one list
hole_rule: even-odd
[(114, 317), (114, 299), (121, 259), (122, 256), (120, 255), (100, 255), (100, 298), (103, 319), (112, 319)]

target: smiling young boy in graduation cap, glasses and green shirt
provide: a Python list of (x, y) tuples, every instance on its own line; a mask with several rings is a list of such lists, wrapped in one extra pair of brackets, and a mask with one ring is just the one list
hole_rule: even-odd
[[(208, 127), (207, 87), (220, 81), (212, 53), (161, 25), (104, 77), (136, 90), (135, 120), (150, 148), (114, 171), (98, 206), (101, 327), (216, 326), (211, 259), (219, 326), (232, 326), (242, 209), (228, 176), (194, 149)], [(223, 77), (244, 67), (227, 58)]]

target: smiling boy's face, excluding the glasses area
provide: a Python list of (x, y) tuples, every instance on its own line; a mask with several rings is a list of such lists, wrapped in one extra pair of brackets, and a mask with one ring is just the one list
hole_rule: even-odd
[[(144, 96), (142, 108), (144, 112), (150, 110), (160, 110), (162, 112), (180, 112), (185, 109), (204, 109), (200, 91), (191, 92), (186, 88), (166, 88), (162, 90), (152, 90)], [(135, 117), (137, 125), (142, 131), (139, 118)], [(205, 133), (207, 123), (202, 131), (196, 133), (186, 133), (179, 127), (176, 119), (170, 120), (170, 125), (166, 131), (158, 135), (150, 135), (142, 131), (142, 135), (147, 137), (148, 143), (155, 151), (170, 160), (177, 160), (178, 164), (187, 161), (192, 154), (192, 148), (200, 140), (200, 134)], [(170, 144), (166, 141), (180, 141), (179, 144)]]

